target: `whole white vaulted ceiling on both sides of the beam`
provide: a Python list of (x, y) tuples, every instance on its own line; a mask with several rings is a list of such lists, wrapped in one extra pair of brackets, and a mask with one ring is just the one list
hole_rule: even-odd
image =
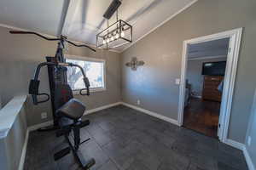
[[(78, 42), (96, 44), (96, 33), (107, 26), (102, 15), (112, 0), (71, 0), (64, 34)], [(133, 41), (176, 14), (193, 0), (123, 0), (119, 19), (133, 26)], [(1, 0), (0, 24), (58, 35), (67, 0)], [(109, 23), (115, 21), (115, 15)], [(126, 45), (127, 46), (127, 45)], [(122, 51), (125, 46), (117, 48)]]

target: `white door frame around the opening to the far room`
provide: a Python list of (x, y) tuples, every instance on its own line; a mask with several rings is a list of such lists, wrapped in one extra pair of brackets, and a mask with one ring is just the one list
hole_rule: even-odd
[(187, 71), (187, 48), (189, 44), (195, 44), (199, 42), (208, 42), (212, 40), (218, 40), (226, 37), (230, 37), (230, 49), (227, 56), (226, 72), (224, 77), (224, 91), (222, 97), (222, 103), (219, 115), (218, 139), (222, 142), (226, 142), (228, 138), (228, 128), (230, 123), (230, 111), (232, 106), (233, 92), (236, 81), (237, 61), (239, 57), (239, 50), (241, 44), (242, 28), (237, 28), (230, 31), (219, 32), (204, 37), (196, 37), (193, 39), (185, 40), (183, 42), (183, 59), (182, 59), (182, 71), (181, 71), (181, 84), (179, 89), (179, 105), (178, 105), (178, 117), (177, 122), (179, 126), (183, 125), (183, 107), (185, 98), (185, 83), (186, 83), (186, 71)]

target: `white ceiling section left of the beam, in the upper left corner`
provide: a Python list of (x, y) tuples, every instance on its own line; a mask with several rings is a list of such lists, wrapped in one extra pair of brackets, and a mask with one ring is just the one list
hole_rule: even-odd
[(63, 0), (0, 0), (0, 24), (56, 35)]

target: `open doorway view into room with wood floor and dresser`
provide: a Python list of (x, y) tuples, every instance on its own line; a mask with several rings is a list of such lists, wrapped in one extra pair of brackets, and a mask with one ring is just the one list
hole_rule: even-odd
[(218, 138), (230, 38), (189, 44), (183, 127)]

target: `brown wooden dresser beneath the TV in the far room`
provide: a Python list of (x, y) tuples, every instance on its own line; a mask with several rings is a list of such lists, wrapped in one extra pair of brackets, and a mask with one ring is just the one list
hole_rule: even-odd
[(218, 91), (218, 85), (223, 79), (223, 76), (204, 76), (202, 99), (221, 102), (222, 94)]

